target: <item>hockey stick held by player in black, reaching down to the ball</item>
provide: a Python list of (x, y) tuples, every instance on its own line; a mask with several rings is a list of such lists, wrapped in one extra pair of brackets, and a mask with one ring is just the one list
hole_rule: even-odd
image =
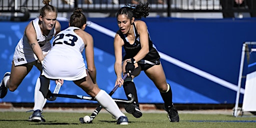
[[(126, 77), (127, 77), (127, 73), (124, 74), (124, 76), (122, 77), (122, 79), (125, 79)], [(119, 87), (119, 84), (116, 85), (108, 94), (111, 96), (111, 95), (114, 93), (114, 91), (115, 91), (118, 87)], [(132, 96), (132, 98), (133, 98), (133, 96)], [(133, 99), (132, 99), (132, 100), (133, 100)], [(92, 120), (93, 120), (93, 119), (96, 117), (96, 115), (98, 114), (98, 112), (102, 109), (102, 107), (103, 107), (103, 106), (98, 105), (97, 108), (90, 114), (90, 121), (89, 121), (89, 122), (85, 122), (85, 121), (83, 120), (83, 117), (80, 117), (80, 118), (79, 118), (79, 121), (80, 121), (81, 123), (91, 123)]]

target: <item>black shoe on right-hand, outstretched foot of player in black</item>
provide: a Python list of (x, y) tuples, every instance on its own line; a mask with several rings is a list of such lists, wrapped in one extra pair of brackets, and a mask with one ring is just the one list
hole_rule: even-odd
[(168, 112), (167, 117), (171, 122), (178, 122), (179, 117), (178, 117), (178, 111), (176, 110), (175, 106), (168, 106), (167, 108), (164, 107), (164, 110)]

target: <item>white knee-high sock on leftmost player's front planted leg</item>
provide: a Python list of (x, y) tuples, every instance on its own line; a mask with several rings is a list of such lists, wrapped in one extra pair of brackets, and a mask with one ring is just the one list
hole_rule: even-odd
[(33, 110), (39, 109), (39, 110), (42, 111), (42, 108), (45, 105), (47, 99), (43, 97), (42, 92), (39, 90), (40, 85), (41, 85), (40, 78), (37, 78), (36, 84), (35, 84), (35, 87), (34, 87), (34, 107), (33, 107)]

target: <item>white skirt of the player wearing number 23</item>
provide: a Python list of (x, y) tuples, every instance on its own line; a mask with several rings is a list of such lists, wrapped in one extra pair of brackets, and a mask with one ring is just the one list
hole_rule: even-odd
[(72, 81), (87, 76), (87, 73), (83, 58), (48, 54), (42, 62), (42, 75)]

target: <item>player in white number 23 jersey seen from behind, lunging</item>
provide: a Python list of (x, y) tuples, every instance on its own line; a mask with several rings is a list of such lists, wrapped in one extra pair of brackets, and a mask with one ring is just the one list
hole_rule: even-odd
[[(81, 8), (76, 8), (70, 16), (69, 27), (54, 37), (52, 47), (42, 62), (42, 73), (36, 81), (41, 86), (42, 99), (47, 95), (50, 79), (72, 80), (91, 97), (95, 97), (115, 117), (117, 124), (128, 124), (127, 117), (114, 100), (96, 83), (93, 38), (84, 31), (85, 27), (86, 17)], [(81, 54), (83, 49), (87, 69)]]

